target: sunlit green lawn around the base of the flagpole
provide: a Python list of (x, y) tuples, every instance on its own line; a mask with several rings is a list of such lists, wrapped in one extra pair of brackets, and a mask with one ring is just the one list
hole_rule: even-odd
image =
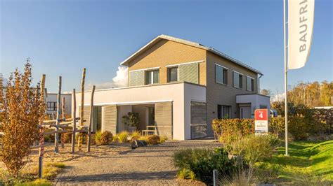
[(284, 144), (270, 160), (281, 166), (280, 180), (333, 181), (333, 141), (289, 143), (289, 157), (285, 156)]

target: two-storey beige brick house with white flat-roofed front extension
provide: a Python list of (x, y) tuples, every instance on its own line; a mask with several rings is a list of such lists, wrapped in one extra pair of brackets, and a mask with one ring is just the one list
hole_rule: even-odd
[[(269, 96), (258, 94), (260, 71), (199, 43), (157, 36), (122, 65), (129, 68), (129, 87), (96, 90), (94, 130), (126, 130), (122, 116), (133, 111), (138, 130), (155, 125), (169, 138), (200, 138), (213, 135), (214, 118), (251, 118), (256, 108), (270, 107)], [(77, 93), (77, 106), (80, 99)]]

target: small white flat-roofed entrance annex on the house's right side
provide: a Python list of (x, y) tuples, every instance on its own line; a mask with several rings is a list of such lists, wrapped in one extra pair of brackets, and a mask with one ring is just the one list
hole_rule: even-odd
[(254, 110), (259, 109), (261, 105), (267, 106), (267, 109), (270, 110), (270, 97), (260, 94), (237, 95), (236, 103), (251, 103), (252, 118), (254, 118)]

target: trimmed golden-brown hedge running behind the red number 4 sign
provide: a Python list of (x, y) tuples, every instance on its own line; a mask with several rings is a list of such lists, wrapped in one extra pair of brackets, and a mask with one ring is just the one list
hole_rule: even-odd
[[(295, 140), (306, 140), (309, 136), (320, 136), (327, 133), (327, 117), (319, 110), (301, 110), (299, 114), (290, 115), (288, 131)], [(253, 119), (215, 119), (212, 127), (218, 140), (225, 143), (235, 136), (242, 137), (254, 134)], [(270, 117), (268, 131), (280, 138), (285, 135), (285, 117)]]

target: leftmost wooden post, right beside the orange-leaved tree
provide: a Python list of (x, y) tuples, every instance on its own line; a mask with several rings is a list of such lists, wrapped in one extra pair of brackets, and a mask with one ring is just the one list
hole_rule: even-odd
[[(41, 76), (41, 101), (43, 101), (44, 105), (45, 105), (45, 96), (44, 96), (44, 90), (45, 90), (45, 78), (46, 78), (46, 75), (43, 74)], [(46, 112), (46, 110), (44, 110)], [(43, 120), (44, 120), (44, 117), (41, 118), (41, 120), (39, 121), (39, 125), (40, 127), (42, 126), (43, 124)], [(41, 145), (41, 148), (39, 148), (39, 162), (38, 162), (38, 178), (41, 178), (42, 177), (42, 173), (43, 173), (43, 156), (44, 156), (44, 127), (41, 127), (39, 129), (39, 132), (41, 134), (41, 138), (39, 139), (39, 145)]]

